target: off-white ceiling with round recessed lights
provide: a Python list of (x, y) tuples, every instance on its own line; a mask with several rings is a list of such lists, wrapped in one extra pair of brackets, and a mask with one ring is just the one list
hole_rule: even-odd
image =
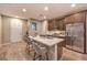
[[(46, 19), (59, 18), (77, 10), (86, 10), (87, 3), (78, 3), (72, 8), (72, 3), (0, 3), (0, 13), (9, 17), (19, 17), (22, 19), (39, 19), (45, 15)], [(48, 7), (48, 11), (44, 11)], [(23, 12), (22, 9), (26, 9)]]

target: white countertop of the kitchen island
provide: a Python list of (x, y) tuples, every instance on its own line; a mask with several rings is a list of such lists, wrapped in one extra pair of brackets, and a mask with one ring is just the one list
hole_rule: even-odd
[(30, 39), (34, 40), (34, 41), (37, 41), (44, 45), (47, 45), (47, 46), (53, 46), (55, 44), (58, 44), (61, 42), (64, 41), (64, 39), (58, 39), (58, 37), (42, 37), (42, 36), (29, 36)]

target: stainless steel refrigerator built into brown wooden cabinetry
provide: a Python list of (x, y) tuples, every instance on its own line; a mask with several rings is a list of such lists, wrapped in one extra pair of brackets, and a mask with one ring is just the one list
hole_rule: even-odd
[(66, 47), (84, 53), (84, 23), (66, 24)]

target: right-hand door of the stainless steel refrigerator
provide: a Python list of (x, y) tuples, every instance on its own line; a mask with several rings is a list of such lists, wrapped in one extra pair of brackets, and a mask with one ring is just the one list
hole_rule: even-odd
[(73, 24), (73, 50), (84, 53), (84, 23)]

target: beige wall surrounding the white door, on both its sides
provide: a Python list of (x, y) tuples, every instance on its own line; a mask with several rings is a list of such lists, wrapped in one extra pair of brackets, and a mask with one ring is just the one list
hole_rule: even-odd
[[(9, 17), (2, 17), (2, 41), (3, 41), (3, 43), (9, 43), (10, 42), (10, 34), (11, 34), (11, 32), (10, 32), (10, 29), (11, 29), (11, 26), (10, 26), (10, 22), (12, 21), (12, 19), (15, 19), (15, 18), (9, 18)], [(23, 22), (26, 22), (26, 20), (22, 20), (22, 19), (18, 19), (19, 21), (21, 21), (22, 23)], [(24, 35), (25, 34), (25, 30), (26, 29), (24, 29), (24, 24), (25, 23), (23, 23), (23, 26), (22, 26), (22, 35)]]

